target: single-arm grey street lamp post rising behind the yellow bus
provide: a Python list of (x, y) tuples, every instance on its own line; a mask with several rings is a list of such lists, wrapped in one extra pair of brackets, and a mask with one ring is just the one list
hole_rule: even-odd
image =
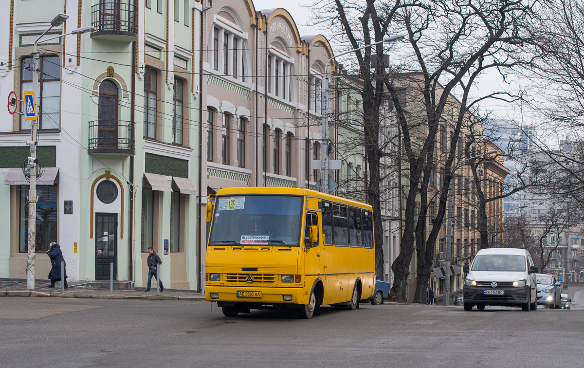
[(322, 84), (322, 93), (321, 93), (321, 125), (322, 125), (322, 144), (321, 144), (321, 192), (328, 193), (328, 168), (329, 168), (329, 160), (328, 160), (328, 64), (331, 63), (331, 60), (335, 57), (339, 57), (342, 55), (350, 54), (353, 51), (358, 51), (363, 48), (371, 47), (376, 44), (380, 44), (383, 42), (393, 42), (397, 40), (403, 39), (405, 36), (403, 34), (398, 34), (397, 36), (387, 37), (387, 39), (383, 39), (381, 41), (374, 42), (369, 45), (353, 48), (353, 50), (346, 51), (342, 54), (338, 54), (336, 56), (332, 56), (329, 60), (325, 63), (325, 78)]

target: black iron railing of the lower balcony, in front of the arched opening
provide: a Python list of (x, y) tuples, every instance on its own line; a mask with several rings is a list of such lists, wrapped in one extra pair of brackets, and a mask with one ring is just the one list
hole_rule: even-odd
[(131, 121), (89, 121), (88, 153), (134, 155), (134, 126)]

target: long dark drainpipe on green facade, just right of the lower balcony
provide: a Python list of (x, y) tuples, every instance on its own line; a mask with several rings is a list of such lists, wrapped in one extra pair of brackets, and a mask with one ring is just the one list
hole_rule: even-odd
[[(130, 129), (130, 140), (134, 142), (134, 155), (136, 149), (136, 132), (135, 132), (135, 100), (136, 100), (136, 41), (132, 43), (132, 69), (131, 69), (131, 85), (132, 92), (130, 98), (130, 121), (134, 124)], [(134, 280), (134, 155), (130, 156), (130, 182), (128, 187), (130, 189), (130, 211), (128, 213), (128, 251), (130, 261), (130, 281)], [(121, 214), (124, 216), (124, 214)]]

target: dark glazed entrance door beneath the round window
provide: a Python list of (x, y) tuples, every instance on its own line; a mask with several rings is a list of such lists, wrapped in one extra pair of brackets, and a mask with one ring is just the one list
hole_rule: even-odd
[(113, 263), (116, 280), (117, 213), (96, 213), (95, 217), (95, 279), (109, 280), (110, 263)]

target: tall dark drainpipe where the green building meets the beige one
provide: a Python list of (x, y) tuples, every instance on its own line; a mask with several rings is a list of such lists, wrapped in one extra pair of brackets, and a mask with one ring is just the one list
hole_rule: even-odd
[[(209, 6), (203, 8), (200, 19), (199, 32), (199, 192), (197, 197), (197, 291), (201, 291), (201, 244), (203, 232), (201, 231), (201, 207), (203, 206), (203, 12), (213, 8), (213, 0), (209, 0)], [(193, 25), (194, 26), (194, 25)]]

